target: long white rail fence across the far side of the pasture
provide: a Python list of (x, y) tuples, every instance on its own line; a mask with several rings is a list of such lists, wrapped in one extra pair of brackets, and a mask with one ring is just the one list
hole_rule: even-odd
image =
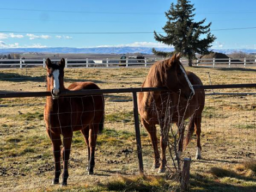
[[(60, 61), (60, 59), (52, 59), (51, 61)], [(66, 67), (149, 67), (157, 60), (153, 59), (65, 59)], [(182, 64), (187, 64), (186, 59), (180, 60)], [(206, 62), (205, 62), (206, 61)], [(206, 67), (237, 67), (256, 65), (256, 57), (243, 59), (197, 59), (193, 66)], [(46, 66), (46, 59), (0, 59), (1, 66), (27, 67), (27, 66)]]

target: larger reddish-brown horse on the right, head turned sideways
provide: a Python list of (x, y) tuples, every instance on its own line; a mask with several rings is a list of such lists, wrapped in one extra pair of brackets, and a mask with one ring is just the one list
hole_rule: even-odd
[[(205, 103), (203, 89), (194, 91), (193, 85), (203, 85), (199, 77), (192, 72), (186, 72), (180, 63), (180, 54), (172, 58), (157, 61), (151, 66), (143, 88), (165, 87), (168, 91), (139, 92), (138, 111), (141, 115), (142, 125), (147, 129), (154, 149), (153, 169), (165, 171), (166, 147), (170, 125), (175, 123), (179, 131), (178, 157), (186, 148), (194, 129), (197, 135), (196, 159), (201, 158), (200, 132), (202, 112)], [(190, 117), (188, 132), (184, 143), (184, 120)], [(160, 125), (161, 158), (157, 147), (156, 125)]]

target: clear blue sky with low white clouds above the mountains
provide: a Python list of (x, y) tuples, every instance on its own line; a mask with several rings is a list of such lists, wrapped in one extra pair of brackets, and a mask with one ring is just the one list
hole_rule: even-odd
[[(0, 48), (167, 47), (154, 39), (176, 0), (2, 0)], [(256, 1), (191, 0), (195, 21), (212, 22), (214, 49), (256, 49)], [(255, 28), (253, 28), (255, 27)], [(230, 28), (251, 28), (219, 30)], [(124, 32), (123, 34), (100, 34)], [(77, 34), (82, 33), (82, 34)], [(84, 34), (94, 33), (94, 34)], [(96, 33), (96, 34), (95, 34)]]

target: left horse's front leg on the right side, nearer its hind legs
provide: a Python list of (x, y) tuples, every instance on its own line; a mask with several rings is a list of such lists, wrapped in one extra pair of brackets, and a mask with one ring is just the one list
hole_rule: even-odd
[(63, 135), (63, 148), (62, 148), (62, 159), (63, 159), (63, 175), (62, 175), (62, 185), (67, 185), (69, 171), (69, 156), (70, 156), (70, 148), (72, 143), (73, 133), (71, 132), (68, 135)]

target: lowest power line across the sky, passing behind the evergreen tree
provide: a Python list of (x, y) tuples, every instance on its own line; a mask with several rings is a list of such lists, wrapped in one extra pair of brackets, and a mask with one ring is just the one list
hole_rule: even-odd
[[(244, 28), (227, 28), (227, 29), (212, 29), (212, 31), (217, 30), (241, 30), (241, 29), (255, 29), (256, 27), (244, 27)], [(151, 34), (154, 32), (19, 32), (19, 31), (0, 31), (0, 33), (45, 33), (45, 34)], [(156, 32), (164, 33), (164, 32)]]

